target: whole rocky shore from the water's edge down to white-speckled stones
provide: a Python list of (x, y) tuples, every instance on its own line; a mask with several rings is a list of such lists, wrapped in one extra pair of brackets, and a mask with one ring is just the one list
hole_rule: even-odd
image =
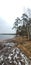
[(0, 41), (0, 65), (31, 65), (31, 60), (17, 48), (21, 42), (20, 37)]

